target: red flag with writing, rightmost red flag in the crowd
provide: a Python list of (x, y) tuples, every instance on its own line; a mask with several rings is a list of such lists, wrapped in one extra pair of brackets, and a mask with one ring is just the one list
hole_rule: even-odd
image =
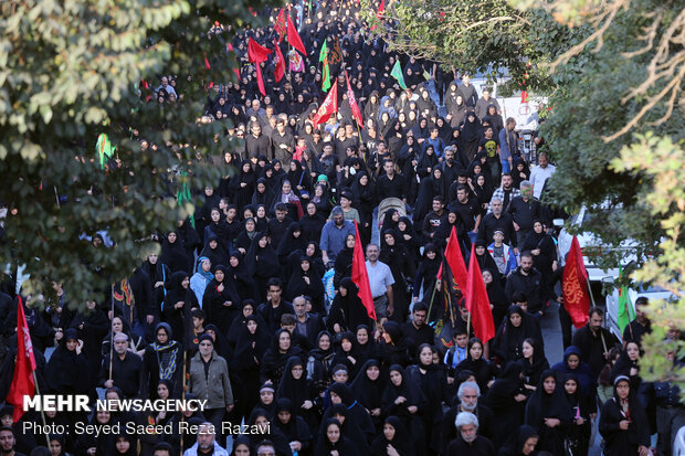
[(563, 277), (561, 279), (563, 291), (563, 307), (571, 316), (576, 328), (582, 328), (590, 318), (590, 295), (588, 293), (588, 272), (582, 262), (582, 252), (578, 237), (573, 236), (571, 250), (566, 258)]

